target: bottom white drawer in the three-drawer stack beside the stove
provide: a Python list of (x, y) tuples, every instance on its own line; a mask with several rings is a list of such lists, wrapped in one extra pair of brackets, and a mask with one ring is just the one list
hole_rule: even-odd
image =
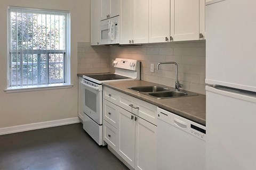
[(108, 145), (117, 151), (118, 146), (118, 130), (109, 124), (107, 121), (103, 121), (103, 140)]

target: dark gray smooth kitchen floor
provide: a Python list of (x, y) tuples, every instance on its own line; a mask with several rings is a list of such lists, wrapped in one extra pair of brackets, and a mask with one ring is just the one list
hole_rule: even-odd
[(128, 169), (81, 123), (0, 135), (1, 170)]

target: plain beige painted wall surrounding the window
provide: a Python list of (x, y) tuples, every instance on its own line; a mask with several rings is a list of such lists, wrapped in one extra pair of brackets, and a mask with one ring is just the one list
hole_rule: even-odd
[[(71, 13), (71, 83), (73, 88), (6, 94), (7, 6), (66, 10)], [(0, 128), (77, 116), (77, 42), (90, 42), (90, 0), (0, 1)]]

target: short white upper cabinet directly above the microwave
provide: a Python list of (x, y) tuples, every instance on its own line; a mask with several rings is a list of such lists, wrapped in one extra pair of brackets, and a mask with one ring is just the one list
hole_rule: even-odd
[(100, 0), (100, 20), (112, 18), (119, 15), (119, 13), (120, 0)]

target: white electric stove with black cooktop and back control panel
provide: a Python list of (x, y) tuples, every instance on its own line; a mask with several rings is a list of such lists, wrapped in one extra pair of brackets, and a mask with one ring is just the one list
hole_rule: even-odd
[(83, 128), (98, 143), (103, 145), (103, 91), (102, 83), (110, 81), (140, 80), (140, 62), (116, 58), (115, 73), (83, 75), (81, 81), (83, 98)]

